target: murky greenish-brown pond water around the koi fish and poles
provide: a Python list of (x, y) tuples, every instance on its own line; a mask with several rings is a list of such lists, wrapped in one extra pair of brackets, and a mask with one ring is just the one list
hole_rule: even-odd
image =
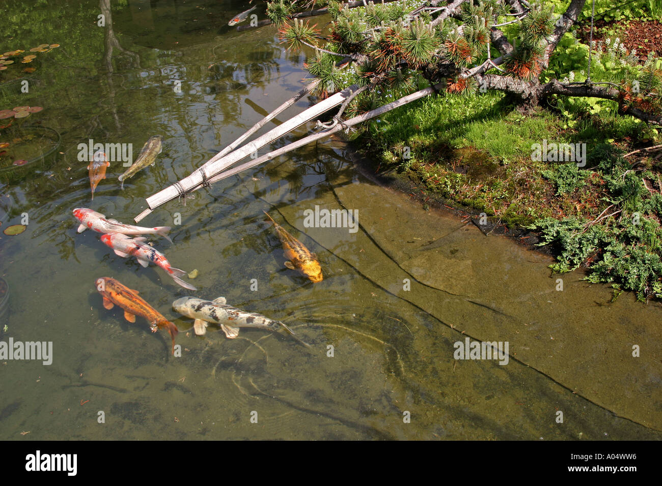
[[(27, 431), (31, 439), (661, 437), (659, 305), (632, 296), (602, 305), (609, 292), (581, 274), (563, 276), (557, 291), (547, 257), (375, 185), (338, 141), (214, 184), (185, 205), (170, 202), (141, 222), (173, 225), (181, 216), (173, 245), (151, 241), (173, 266), (199, 270), (198, 292), (160, 268), (117, 257), (98, 233), (76, 233), (77, 207), (131, 223), (146, 196), (298, 91), (305, 55), (285, 52), (273, 27), (228, 28), (248, 3), (2, 8), (3, 52), (60, 48), (38, 53), (28, 93), (21, 80), (0, 86), (0, 109), (43, 106), (26, 123), (58, 133), (44, 146), (60, 143), (38, 167), (0, 185), (1, 228), (28, 216), (23, 234), (0, 237), (0, 275), (11, 293), (1, 341), (54, 348), (50, 366), (0, 361), (1, 438)], [(132, 143), (135, 157), (155, 134), (165, 139), (156, 165), (122, 191), (124, 168), (111, 163), (91, 201), (78, 144)], [(359, 210), (359, 231), (303, 227), (303, 211), (316, 204)], [(318, 253), (323, 282), (283, 266), (262, 210)], [(169, 354), (164, 331), (104, 309), (93, 285), (101, 276), (139, 290), (173, 319), (182, 356)], [(259, 330), (229, 340), (210, 327), (196, 337), (192, 322), (170, 309), (191, 294), (281, 319), (312, 349)], [(508, 364), (455, 360), (453, 344), (467, 336), (508, 341)]]

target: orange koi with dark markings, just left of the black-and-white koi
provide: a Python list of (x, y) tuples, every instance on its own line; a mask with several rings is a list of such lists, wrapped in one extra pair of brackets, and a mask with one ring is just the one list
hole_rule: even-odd
[(124, 319), (129, 322), (136, 322), (136, 315), (144, 317), (150, 323), (152, 333), (165, 327), (172, 338), (172, 354), (175, 354), (175, 336), (179, 333), (177, 326), (139, 297), (138, 290), (132, 290), (110, 277), (97, 278), (95, 286), (103, 297), (103, 307), (106, 309), (110, 310), (115, 304), (119, 305), (124, 309)]

